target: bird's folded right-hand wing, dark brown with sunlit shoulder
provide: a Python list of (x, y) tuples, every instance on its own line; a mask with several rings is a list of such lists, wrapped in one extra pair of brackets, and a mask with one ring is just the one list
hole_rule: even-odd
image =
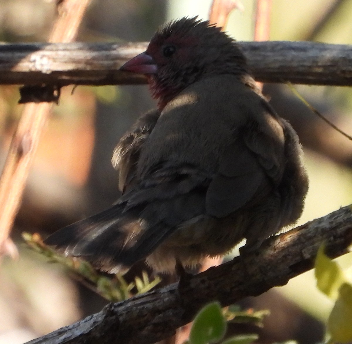
[(282, 124), (264, 100), (260, 108), (254, 110), (258, 114), (235, 131), (210, 182), (206, 209), (212, 216), (225, 217), (260, 201), (281, 181), (284, 170)]

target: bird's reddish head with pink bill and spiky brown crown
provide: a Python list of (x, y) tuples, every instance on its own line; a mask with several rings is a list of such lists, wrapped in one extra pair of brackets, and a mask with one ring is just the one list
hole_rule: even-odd
[(161, 109), (201, 77), (248, 73), (245, 57), (233, 39), (197, 17), (172, 21), (159, 29), (147, 50), (120, 69), (147, 75)]

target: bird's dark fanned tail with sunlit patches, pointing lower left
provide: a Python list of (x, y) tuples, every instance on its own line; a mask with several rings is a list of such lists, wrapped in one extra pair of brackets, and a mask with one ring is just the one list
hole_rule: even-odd
[(125, 270), (147, 257), (172, 232), (157, 217), (142, 218), (143, 210), (137, 206), (124, 212), (124, 206), (117, 204), (58, 230), (44, 243), (55, 245), (65, 255), (81, 256), (98, 269)]

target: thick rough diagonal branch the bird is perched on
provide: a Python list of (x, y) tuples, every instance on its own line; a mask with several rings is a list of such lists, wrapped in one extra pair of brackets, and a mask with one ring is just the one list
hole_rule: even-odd
[(191, 277), (180, 283), (110, 304), (101, 312), (27, 344), (147, 344), (167, 338), (187, 324), (207, 302), (231, 305), (260, 295), (313, 267), (321, 243), (335, 258), (352, 243), (352, 208), (267, 239), (260, 251)]

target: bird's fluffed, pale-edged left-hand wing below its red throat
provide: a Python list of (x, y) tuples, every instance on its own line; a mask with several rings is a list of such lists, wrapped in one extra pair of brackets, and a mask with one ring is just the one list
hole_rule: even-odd
[(119, 170), (119, 189), (123, 193), (133, 184), (140, 150), (159, 116), (160, 111), (157, 109), (141, 116), (131, 130), (121, 137), (114, 149), (111, 163), (115, 169)]

